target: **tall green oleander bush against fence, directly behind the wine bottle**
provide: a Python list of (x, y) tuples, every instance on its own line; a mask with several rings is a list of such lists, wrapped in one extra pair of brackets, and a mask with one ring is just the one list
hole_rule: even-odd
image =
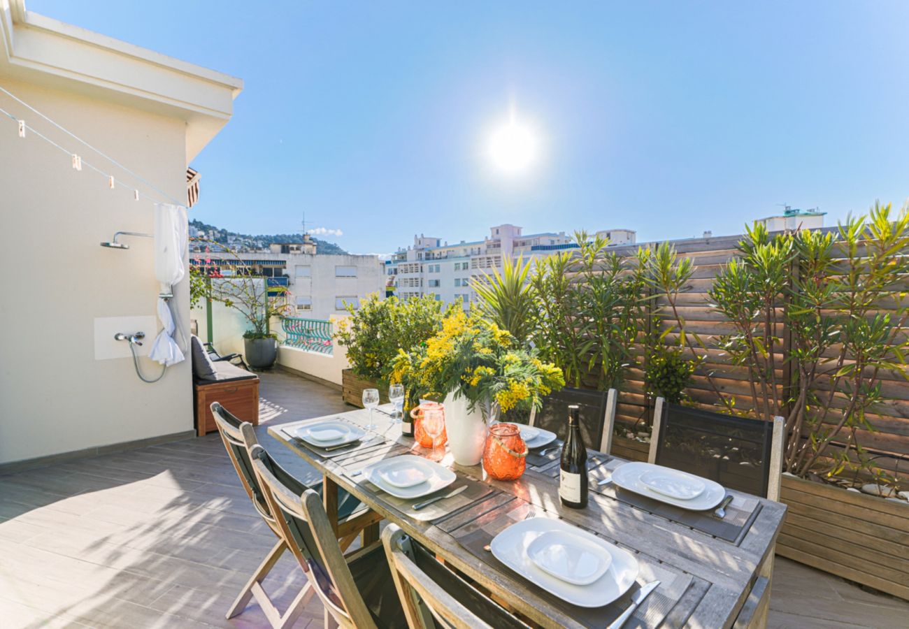
[(608, 252), (601, 236), (577, 232), (574, 242), (577, 250), (540, 260), (531, 276), (539, 295), (532, 340), (567, 382), (605, 390), (620, 385), (634, 364), (632, 347), (646, 320), (643, 269)]

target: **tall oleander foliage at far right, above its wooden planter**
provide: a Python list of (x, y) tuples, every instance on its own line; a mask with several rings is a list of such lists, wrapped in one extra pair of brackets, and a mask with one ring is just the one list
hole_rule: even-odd
[[(907, 248), (907, 208), (894, 218), (890, 205), (875, 205), (834, 233), (769, 235), (754, 226), (739, 243), (740, 259), (714, 280), (714, 309), (734, 325), (721, 344), (747, 368), (750, 413), (786, 419), (787, 471), (883, 474), (858, 431), (874, 431), (868, 414), (886, 401), (882, 376), (909, 378)], [(789, 387), (779, 376), (786, 363)]]

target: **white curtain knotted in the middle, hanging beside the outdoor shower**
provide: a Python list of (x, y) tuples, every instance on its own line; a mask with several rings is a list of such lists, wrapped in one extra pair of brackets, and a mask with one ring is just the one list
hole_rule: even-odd
[[(170, 295), (174, 285), (186, 275), (188, 226), (183, 205), (155, 204), (155, 276), (161, 293)], [(174, 340), (175, 320), (169, 300), (158, 297), (158, 318), (163, 329), (155, 338), (148, 357), (170, 366), (185, 360), (183, 350)]]

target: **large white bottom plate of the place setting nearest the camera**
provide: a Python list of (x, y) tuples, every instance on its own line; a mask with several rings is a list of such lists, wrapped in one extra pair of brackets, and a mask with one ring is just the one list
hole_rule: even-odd
[[(586, 585), (571, 584), (549, 574), (530, 558), (528, 549), (543, 534), (573, 534), (586, 537), (612, 557), (603, 574)], [(638, 564), (634, 556), (602, 537), (564, 522), (547, 517), (533, 517), (512, 524), (495, 535), (490, 545), (493, 555), (503, 564), (545, 591), (580, 607), (602, 607), (628, 591), (637, 578)]]

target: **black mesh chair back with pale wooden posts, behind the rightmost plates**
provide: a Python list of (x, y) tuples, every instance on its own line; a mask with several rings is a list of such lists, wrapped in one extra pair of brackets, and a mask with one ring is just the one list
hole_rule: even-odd
[(647, 460), (779, 500), (783, 437), (782, 417), (765, 422), (668, 404), (658, 397)]

